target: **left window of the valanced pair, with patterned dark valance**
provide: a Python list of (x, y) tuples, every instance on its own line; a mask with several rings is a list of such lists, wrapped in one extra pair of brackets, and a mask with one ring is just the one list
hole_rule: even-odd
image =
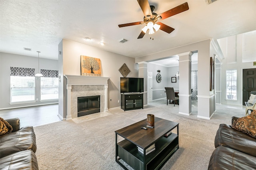
[(11, 103), (35, 100), (35, 69), (10, 67)]

